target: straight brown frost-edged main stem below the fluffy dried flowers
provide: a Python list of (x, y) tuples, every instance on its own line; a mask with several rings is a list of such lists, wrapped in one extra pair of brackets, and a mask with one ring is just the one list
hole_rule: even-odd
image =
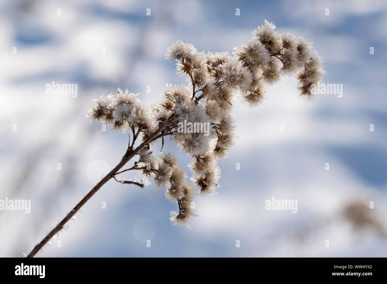
[[(171, 116), (170, 118), (174, 118), (174, 116)], [(96, 184), (90, 191), (89, 193), (82, 198), (81, 201), (78, 202), (77, 205), (75, 205), (75, 207), (66, 215), (65, 218), (63, 218), (62, 221), (60, 221), (57, 226), (55, 226), (55, 228), (53, 228), (50, 233), (48, 233), (45, 238), (43, 240), (41, 240), (40, 243), (38, 243), (34, 248), (33, 250), (27, 255), (27, 257), (34, 257), (36, 255), (36, 253), (39, 252), (39, 250), (41, 250), (41, 248), (43, 248), (45, 246), (45, 244), (51, 240), (51, 238), (53, 236), (55, 236), (55, 234), (57, 234), (61, 229), (62, 227), (68, 222), (68, 220), (70, 220), (72, 218), (72, 216), (75, 215), (75, 213), (77, 213), (77, 211), (98, 191), (98, 189), (100, 189), (104, 184), (106, 184), (106, 182), (108, 182), (111, 178), (113, 178), (115, 176), (115, 174), (130, 160), (132, 159), (142, 148), (144, 148), (147, 144), (149, 144), (152, 139), (156, 138), (156, 136), (158, 135), (158, 133), (160, 131), (163, 131), (163, 129), (165, 129), (169, 124), (170, 124), (171, 120), (168, 119), (166, 120), (163, 124), (161, 124), (161, 126), (159, 126), (159, 128), (156, 130), (156, 132), (154, 132), (151, 136), (149, 136), (146, 140), (144, 140), (144, 142), (142, 142), (137, 148), (135, 148), (133, 150), (133, 147), (128, 147), (128, 150), (126, 151), (125, 155), (122, 157), (122, 160), (120, 161), (120, 163), (118, 163), (118, 165), (116, 165), (115, 168), (113, 168), (113, 170), (111, 170), (107, 175), (105, 175), (103, 177), (103, 179), (101, 179), (100, 182), (98, 182), (98, 184)]]

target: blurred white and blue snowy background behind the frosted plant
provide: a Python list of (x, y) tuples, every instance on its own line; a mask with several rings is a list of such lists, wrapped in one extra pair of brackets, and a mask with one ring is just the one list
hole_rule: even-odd
[[(239, 138), (219, 163), (218, 194), (197, 198), (199, 217), (191, 230), (170, 223), (176, 205), (165, 199), (164, 189), (110, 181), (59, 234), (62, 246), (53, 240), (41, 256), (385, 257), (383, 0), (3, 0), (0, 199), (31, 199), (32, 208), (30, 214), (0, 211), (0, 257), (31, 251), (122, 157), (127, 134), (103, 132), (89, 122), (92, 98), (120, 87), (153, 104), (165, 83), (185, 83), (164, 60), (173, 41), (192, 43), (199, 51), (232, 52), (264, 19), (278, 31), (312, 41), (325, 58), (324, 82), (342, 83), (343, 96), (308, 102), (298, 97), (297, 82), (289, 77), (268, 87), (257, 108), (238, 102)], [(371, 46), (375, 54), (369, 53)], [(78, 96), (45, 94), (52, 81), (77, 83)], [(168, 150), (179, 151), (169, 141), (163, 151)], [(188, 156), (178, 152), (178, 158), (188, 170)], [(265, 200), (272, 197), (297, 199), (298, 213), (266, 211)], [(361, 205), (369, 201), (375, 209)], [(360, 205), (345, 218), (349, 204)]]

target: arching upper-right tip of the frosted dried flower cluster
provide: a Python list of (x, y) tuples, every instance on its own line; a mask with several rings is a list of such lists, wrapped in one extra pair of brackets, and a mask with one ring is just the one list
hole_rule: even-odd
[(312, 50), (312, 44), (289, 32), (278, 34), (275, 29), (274, 24), (265, 20), (264, 26), (253, 31), (254, 37), (235, 52), (253, 75), (244, 96), (251, 106), (262, 101), (265, 84), (277, 83), (282, 76), (296, 72), (301, 95), (311, 96), (310, 85), (321, 80), (325, 73), (322, 58)]

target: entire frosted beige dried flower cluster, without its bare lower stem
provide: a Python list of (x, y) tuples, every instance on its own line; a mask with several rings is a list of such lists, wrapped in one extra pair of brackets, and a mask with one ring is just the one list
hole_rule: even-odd
[[(116, 174), (141, 170), (143, 175), (153, 177), (158, 186), (165, 187), (166, 197), (178, 203), (179, 211), (171, 212), (173, 224), (188, 226), (195, 216), (194, 186), (199, 188), (199, 194), (215, 192), (220, 177), (217, 160), (225, 158), (235, 143), (232, 111), (236, 94), (242, 94), (245, 102), (256, 106), (264, 97), (265, 84), (299, 72), (301, 95), (311, 96), (311, 84), (324, 75), (322, 60), (310, 43), (288, 32), (279, 34), (275, 28), (265, 20), (265, 25), (253, 31), (253, 37), (233, 54), (205, 54), (192, 44), (173, 43), (166, 51), (166, 59), (176, 62), (178, 74), (186, 77), (189, 84), (167, 84), (153, 111), (128, 90), (118, 89), (116, 97), (109, 95), (96, 100), (90, 117), (109, 123), (116, 130), (132, 131), (128, 150), (134, 149), (139, 134), (146, 142), (134, 153), (139, 156), (134, 166)], [(210, 134), (177, 131), (178, 123), (184, 121), (209, 122)], [(193, 184), (186, 181), (187, 175), (175, 156), (166, 153), (158, 158), (149, 150), (158, 138), (164, 143), (164, 136), (171, 136), (192, 157), (189, 167)]]

